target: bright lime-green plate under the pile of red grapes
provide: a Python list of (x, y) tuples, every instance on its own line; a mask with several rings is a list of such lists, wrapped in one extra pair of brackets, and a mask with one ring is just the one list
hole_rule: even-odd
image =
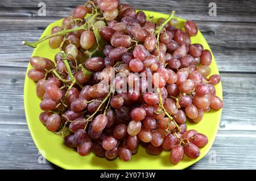
[[(144, 12), (147, 16), (154, 16), (154, 19), (168, 17), (168, 15), (158, 12)], [(177, 19), (180, 22), (179, 26), (183, 27), (185, 20)], [(42, 37), (49, 35), (53, 26), (61, 26), (61, 20), (49, 24), (46, 30), (44, 30)], [(207, 41), (205, 41), (200, 31), (196, 36), (191, 37), (191, 41), (192, 43), (200, 43), (203, 45), (204, 49), (210, 50)], [(44, 41), (34, 49), (32, 56), (42, 56), (54, 60), (55, 54), (58, 52), (58, 49), (54, 50), (49, 48), (48, 41)], [(212, 59), (213, 61), (210, 65), (212, 74), (219, 74), (214, 57)], [(28, 64), (27, 71), (30, 69), (32, 69), (32, 66)], [(215, 87), (216, 95), (222, 99), (221, 82)], [(44, 157), (46, 157), (49, 162), (63, 169), (185, 169), (199, 161), (208, 153), (216, 137), (221, 120), (221, 110), (211, 110), (204, 114), (204, 119), (200, 123), (189, 123), (187, 121), (188, 129), (196, 129), (200, 133), (207, 135), (209, 140), (208, 144), (204, 148), (201, 148), (201, 155), (197, 159), (191, 159), (185, 156), (183, 161), (177, 165), (173, 165), (169, 161), (170, 151), (163, 151), (160, 155), (148, 155), (145, 149), (139, 146), (138, 153), (133, 155), (130, 162), (123, 162), (119, 158), (114, 161), (108, 161), (105, 158), (96, 157), (93, 153), (90, 153), (86, 157), (81, 157), (75, 150), (67, 148), (63, 144), (62, 138), (55, 133), (47, 131), (46, 127), (38, 119), (40, 112), (42, 112), (39, 108), (39, 104), (40, 99), (36, 96), (36, 82), (29, 79), (26, 75), (24, 83), (24, 109), (31, 137), (40, 153), (43, 153)]]

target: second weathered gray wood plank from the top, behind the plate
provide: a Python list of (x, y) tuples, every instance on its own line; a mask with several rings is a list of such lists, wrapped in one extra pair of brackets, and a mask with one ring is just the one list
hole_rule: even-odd
[[(57, 18), (0, 18), (0, 66), (27, 67), (32, 48), (23, 40), (36, 41)], [(256, 72), (256, 23), (197, 21), (213, 51), (220, 71)]]

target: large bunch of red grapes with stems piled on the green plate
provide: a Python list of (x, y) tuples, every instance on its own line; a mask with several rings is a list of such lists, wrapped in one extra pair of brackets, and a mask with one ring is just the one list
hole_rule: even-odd
[[(61, 51), (55, 63), (38, 56), (30, 59), (34, 69), (28, 77), (37, 81), (44, 111), (40, 121), (48, 131), (62, 133), (64, 144), (81, 156), (92, 151), (107, 159), (119, 155), (127, 162), (141, 143), (151, 155), (169, 150), (174, 164), (184, 154), (199, 157), (208, 138), (187, 130), (186, 121), (199, 123), (210, 108), (222, 108), (214, 88), (220, 76), (210, 75), (210, 51), (191, 44), (196, 24), (187, 20), (185, 32), (177, 24), (176, 18), (155, 23), (118, 0), (77, 6), (61, 27), (52, 28), (49, 47)], [(81, 26), (85, 28), (77, 30)], [(104, 57), (85, 56), (98, 43), (93, 28), (106, 43)], [(124, 76), (111, 79), (111, 70)], [(102, 83), (106, 80), (110, 86)], [(149, 91), (148, 82), (157, 91)], [(126, 91), (120, 89), (124, 86)]]

